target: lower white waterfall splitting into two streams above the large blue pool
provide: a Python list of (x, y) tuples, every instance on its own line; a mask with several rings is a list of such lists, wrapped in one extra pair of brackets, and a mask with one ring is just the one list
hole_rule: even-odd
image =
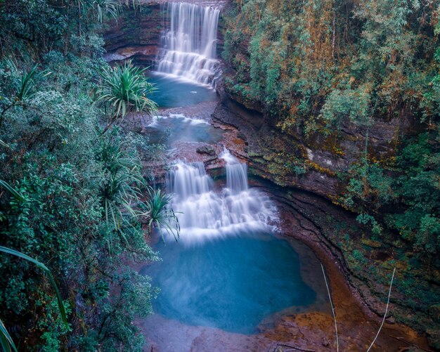
[(181, 226), (180, 241), (201, 242), (213, 237), (236, 235), (245, 231), (271, 230), (276, 222), (276, 207), (269, 198), (247, 186), (246, 164), (228, 151), (227, 187), (214, 191), (214, 181), (202, 162), (176, 162), (169, 172), (167, 188), (174, 193), (172, 207)]

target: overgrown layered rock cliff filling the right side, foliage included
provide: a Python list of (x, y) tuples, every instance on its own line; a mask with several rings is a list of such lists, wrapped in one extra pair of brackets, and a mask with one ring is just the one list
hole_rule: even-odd
[(240, 155), (255, 176), (353, 212), (351, 225), (321, 230), (342, 251), (347, 280), (369, 301), (365, 292), (383, 294), (377, 283), (396, 267), (396, 321), (429, 332), (440, 348), (438, 112), (427, 100), (437, 94), (429, 88), (436, 39), (434, 22), (414, 15), (434, 8), (406, 8), (390, 37), (398, 12), (378, 13), (373, 2), (233, 1), (214, 120), (240, 129)]

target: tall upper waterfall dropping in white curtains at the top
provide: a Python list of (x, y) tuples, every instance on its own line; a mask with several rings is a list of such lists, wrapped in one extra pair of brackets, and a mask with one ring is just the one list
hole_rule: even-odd
[(219, 8), (170, 2), (164, 4), (169, 27), (162, 34), (157, 71), (202, 84), (214, 84)]

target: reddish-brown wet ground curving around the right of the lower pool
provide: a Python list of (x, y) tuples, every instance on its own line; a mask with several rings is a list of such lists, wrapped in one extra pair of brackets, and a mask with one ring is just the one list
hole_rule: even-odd
[[(308, 245), (325, 267), (335, 306), (339, 350), (366, 351), (375, 338), (382, 318), (370, 311), (359, 294), (349, 288), (341, 263), (329, 253), (321, 233), (312, 227), (299, 230), (299, 223), (305, 219), (301, 219), (300, 214), (287, 204), (278, 202), (278, 208), (282, 218), (280, 231)], [(317, 280), (324, 280), (323, 275)], [(383, 292), (384, 297), (387, 293)], [(392, 305), (390, 311), (392, 313)], [(316, 351), (336, 349), (335, 322), (331, 313), (309, 312), (284, 317), (275, 329), (266, 332), (266, 336)], [(372, 351), (403, 351), (408, 346), (429, 351), (426, 337), (418, 336), (417, 332), (405, 325), (385, 322)]]

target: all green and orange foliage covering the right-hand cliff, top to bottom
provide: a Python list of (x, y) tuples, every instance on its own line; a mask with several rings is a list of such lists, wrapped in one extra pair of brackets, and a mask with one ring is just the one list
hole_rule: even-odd
[[(363, 240), (401, 255), (387, 265), (401, 266), (396, 287), (405, 298), (396, 301), (414, 318), (399, 318), (425, 329), (437, 323), (426, 317), (439, 299), (438, 5), (234, 0), (224, 26), (226, 93), (272, 119), (292, 145), (340, 157), (332, 167), (344, 188), (336, 201), (356, 211)], [(388, 144), (385, 125), (395, 127)], [(378, 148), (368, 145), (369, 132)], [(352, 146), (362, 150), (357, 159)], [(304, 162), (287, 161), (287, 176), (302, 174)], [(352, 270), (370, 273), (375, 254), (358, 247), (359, 228), (335, 243)]]

